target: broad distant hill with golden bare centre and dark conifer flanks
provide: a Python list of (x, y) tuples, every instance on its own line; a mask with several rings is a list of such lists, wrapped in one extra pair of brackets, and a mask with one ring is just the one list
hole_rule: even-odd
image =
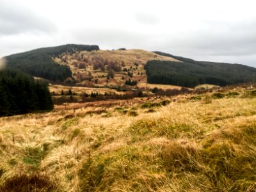
[(199, 84), (226, 86), (256, 81), (256, 68), (245, 65), (195, 61), (141, 49), (102, 51), (97, 45), (47, 47), (5, 59), (8, 66), (54, 84), (121, 91), (194, 88)]

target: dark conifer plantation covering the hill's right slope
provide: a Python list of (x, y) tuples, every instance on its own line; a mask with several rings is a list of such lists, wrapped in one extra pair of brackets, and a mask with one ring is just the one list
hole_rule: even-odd
[(148, 83), (173, 84), (177, 86), (195, 87), (198, 84), (228, 84), (250, 83), (256, 81), (256, 68), (239, 64), (214, 63), (195, 61), (188, 58), (170, 56), (176, 61), (148, 61), (145, 65)]

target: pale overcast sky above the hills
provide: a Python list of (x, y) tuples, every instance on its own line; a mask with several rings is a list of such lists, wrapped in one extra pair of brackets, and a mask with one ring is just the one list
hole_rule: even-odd
[(256, 67), (255, 8), (253, 0), (0, 0), (0, 57), (96, 44)]

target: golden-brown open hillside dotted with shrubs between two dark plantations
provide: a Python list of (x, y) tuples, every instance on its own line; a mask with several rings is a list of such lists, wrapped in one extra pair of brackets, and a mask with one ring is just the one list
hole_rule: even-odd
[[(68, 65), (74, 79), (69, 83), (77, 86), (124, 86), (125, 81), (136, 81), (139, 87), (147, 87), (143, 66), (149, 60), (177, 61), (154, 52), (140, 49), (114, 51), (81, 51), (61, 54), (54, 61)], [(68, 82), (67, 82), (68, 83)]]

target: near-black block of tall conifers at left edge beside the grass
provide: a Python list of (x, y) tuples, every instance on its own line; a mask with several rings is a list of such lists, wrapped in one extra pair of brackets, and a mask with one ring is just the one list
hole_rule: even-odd
[(47, 83), (19, 70), (0, 71), (0, 116), (53, 109)]

